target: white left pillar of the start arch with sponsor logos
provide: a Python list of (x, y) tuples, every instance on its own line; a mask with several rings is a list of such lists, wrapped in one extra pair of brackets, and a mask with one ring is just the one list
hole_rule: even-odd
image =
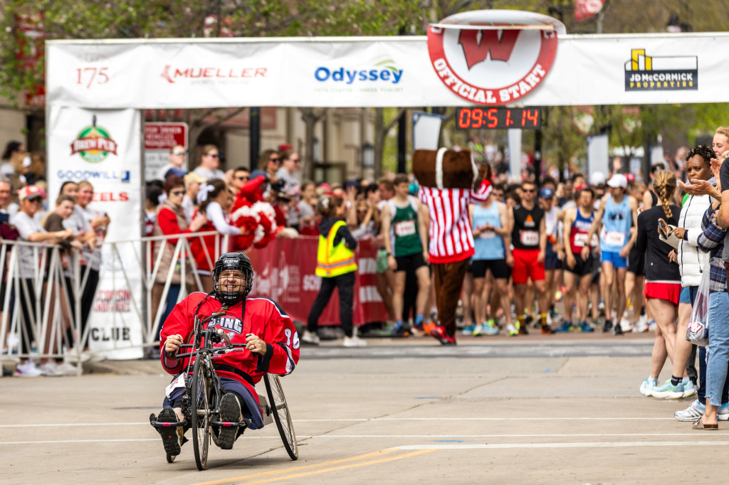
[(120, 245), (112, 253), (110, 244), (141, 237), (139, 111), (51, 106), (49, 122), (50, 208), (63, 182), (89, 181), (94, 189), (90, 207), (99, 215), (108, 214), (112, 221), (101, 248), (100, 281), (88, 323), (89, 346), (97, 351), (114, 349), (105, 352), (109, 358), (139, 358), (141, 348), (132, 348), (142, 342), (135, 310), (141, 308), (143, 294), (139, 263), (131, 245)]

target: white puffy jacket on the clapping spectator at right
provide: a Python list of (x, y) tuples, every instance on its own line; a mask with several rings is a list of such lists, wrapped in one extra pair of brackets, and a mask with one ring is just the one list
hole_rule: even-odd
[(679, 216), (678, 227), (687, 229), (687, 239), (678, 240), (676, 237), (669, 237), (666, 242), (677, 248), (679, 255), (679, 270), (681, 271), (681, 285), (698, 286), (701, 283), (701, 274), (709, 262), (709, 253), (698, 250), (698, 235), (703, 232), (701, 220), (706, 208), (712, 203), (710, 195), (690, 195)]

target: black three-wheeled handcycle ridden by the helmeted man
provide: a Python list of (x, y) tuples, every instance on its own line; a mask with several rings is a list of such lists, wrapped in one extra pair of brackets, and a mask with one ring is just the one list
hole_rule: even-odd
[[(225, 309), (214, 312), (206, 318), (200, 318), (195, 315), (195, 332), (192, 344), (182, 344), (181, 348), (190, 349), (190, 352), (178, 354), (177, 358), (191, 358), (195, 356), (195, 362), (188, 360), (187, 368), (183, 374), (185, 377), (185, 389), (182, 394), (182, 414), (184, 420), (180, 422), (160, 422), (150, 419), (150, 424), (155, 428), (160, 427), (178, 427), (182, 426), (184, 430), (192, 428), (192, 443), (195, 451), (195, 465), (198, 470), (205, 470), (208, 461), (208, 445), (211, 441), (211, 427), (237, 427), (245, 429), (251, 424), (250, 419), (243, 419), (239, 422), (226, 422), (214, 420), (213, 417), (220, 415), (220, 400), (222, 399), (222, 383), (220, 377), (215, 372), (212, 357), (227, 352), (242, 352), (245, 350), (246, 344), (233, 344), (225, 331), (221, 328), (203, 328), (213, 318), (225, 315)], [(203, 339), (205, 344), (200, 347)], [(225, 340), (224, 347), (213, 347), (213, 344), (219, 344)], [(192, 367), (192, 371), (190, 370)], [(190, 378), (190, 374), (192, 377)], [(292, 460), (298, 458), (298, 446), (296, 443), (296, 434), (289, 413), (289, 406), (284, 397), (284, 390), (281, 388), (281, 382), (276, 374), (264, 374), (263, 381), (268, 394), (268, 401), (259, 396), (265, 405), (261, 406), (264, 419), (273, 417), (278, 428), (278, 434), (281, 435), (281, 441), (284, 448)], [(193, 398), (196, 396), (196, 398)], [(242, 403), (241, 403), (242, 404)], [(281, 416), (283, 414), (283, 416)], [(284, 423), (284, 419), (286, 422)], [(181, 443), (182, 444), (182, 443)], [(167, 461), (174, 462), (176, 456), (167, 454)]]

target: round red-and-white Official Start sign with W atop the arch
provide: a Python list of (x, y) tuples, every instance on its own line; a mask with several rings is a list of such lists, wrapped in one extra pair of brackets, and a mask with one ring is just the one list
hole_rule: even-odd
[(546, 15), (480, 10), (429, 25), (428, 53), (441, 82), (472, 103), (513, 103), (541, 83), (564, 25)]

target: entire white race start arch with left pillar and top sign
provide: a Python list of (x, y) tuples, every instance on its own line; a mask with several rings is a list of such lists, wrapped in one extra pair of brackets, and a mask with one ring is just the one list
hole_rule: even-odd
[[(728, 43), (729, 33), (566, 35), (558, 20), (511, 10), (454, 15), (427, 36), (49, 41), (49, 194), (92, 181), (108, 240), (138, 239), (144, 109), (728, 102), (715, 54)], [(141, 299), (139, 256), (120, 256), (129, 291), (103, 277), (101, 287)], [(123, 314), (135, 305), (107, 307), (93, 324), (131, 326), (139, 345)]]

